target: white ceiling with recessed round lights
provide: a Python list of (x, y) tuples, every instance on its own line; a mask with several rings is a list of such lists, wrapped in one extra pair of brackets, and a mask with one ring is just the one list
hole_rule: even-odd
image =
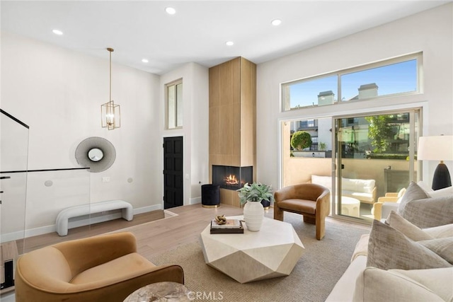
[(447, 2), (2, 0), (0, 9), (2, 30), (106, 59), (112, 47), (113, 62), (165, 74), (239, 56), (260, 64)]

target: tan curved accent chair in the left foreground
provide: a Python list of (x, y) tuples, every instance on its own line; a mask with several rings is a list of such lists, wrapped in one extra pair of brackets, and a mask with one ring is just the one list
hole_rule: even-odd
[(123, 301), (142, 286), (184, 284), (182, 267), (156, 266), (130, 232), (69, 240), (33, 250), (16, 265), (16, 302)]

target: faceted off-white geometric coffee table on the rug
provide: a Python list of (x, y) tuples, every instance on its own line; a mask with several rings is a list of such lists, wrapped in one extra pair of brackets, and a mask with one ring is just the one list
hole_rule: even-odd
[(290, 223), (267, 217), (258, 232), (211, 234), (209, 225), (200, 242), (206, 264), (240, 283), (289, 275), (305, 249)]

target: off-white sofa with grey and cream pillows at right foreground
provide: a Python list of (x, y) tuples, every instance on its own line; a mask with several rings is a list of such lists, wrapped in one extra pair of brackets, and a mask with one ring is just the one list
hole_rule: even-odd
[(360, 238), (327, 302), (453, 301), (453, 194), (414, 185)]

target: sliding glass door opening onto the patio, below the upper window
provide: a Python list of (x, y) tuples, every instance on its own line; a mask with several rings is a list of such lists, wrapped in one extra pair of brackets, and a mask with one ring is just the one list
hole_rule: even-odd
[[(374, 219), (374, 204), (418, 180), (420, 110), (284, 120), (281, 186), (313, 182), (331, 190), (332, 216)], [(310, 137), (298, 145), (293, 137)]]

